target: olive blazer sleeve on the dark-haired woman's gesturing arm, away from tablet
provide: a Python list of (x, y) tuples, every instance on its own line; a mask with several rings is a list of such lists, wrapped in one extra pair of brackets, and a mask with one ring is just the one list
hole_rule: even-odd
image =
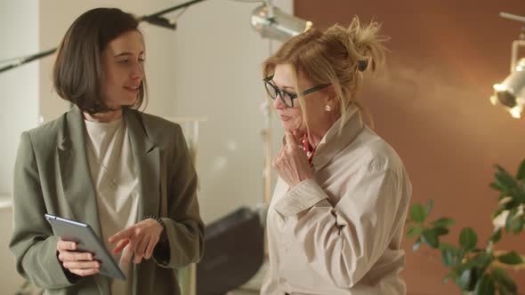
[[(197, 200), (197, 172), (191, 162), (190, 153), (182, 134), (181, 126), (174, 132), (175, 147), (167, 170), (167, 215), (166, 224), (169, 248), (168, 257), (156, 255), (161, 267), (185, 267), (198, 262), (204, 252), (204, 222), (200, 218)], [(161, 251), (158, 251), (158, 253)]]

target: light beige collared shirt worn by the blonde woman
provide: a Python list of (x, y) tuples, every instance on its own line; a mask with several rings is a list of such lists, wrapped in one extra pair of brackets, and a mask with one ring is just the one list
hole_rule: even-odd
[(320, 141), (313, 179), (278, 179), (262, 294), (405, 294), (400, 249), (412, 187), (395, 151), (355, 107)]

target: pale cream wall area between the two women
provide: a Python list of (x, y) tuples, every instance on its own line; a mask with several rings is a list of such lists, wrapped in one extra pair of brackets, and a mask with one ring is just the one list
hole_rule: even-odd
[[(274, 4), (290, 12), (293, 1)], [(199, 200), (206, 221), (263, 201), (260, 65), (270, 47), (250, 26), (258, 5), (226, 0), (196, 4), (182, 15), (172, 39), (175, 114), (208, 118), (201, 124), (198, 155)], [(274, 131), (279, 138), (280, 128)]]

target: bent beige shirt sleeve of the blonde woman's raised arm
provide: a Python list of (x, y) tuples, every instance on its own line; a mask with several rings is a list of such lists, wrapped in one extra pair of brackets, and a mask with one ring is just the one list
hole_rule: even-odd
[(355, 188), (335, 206), (315, 179), (291, 188), (274, 206), (311, 267), (341, 288), (367, 274), (405, 218), (397, 213), (404, 194), (394, 171), (370, 165), (351, 181)]

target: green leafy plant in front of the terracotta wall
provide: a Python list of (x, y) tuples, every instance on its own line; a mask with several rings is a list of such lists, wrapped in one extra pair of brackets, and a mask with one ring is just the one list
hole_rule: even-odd
[(490, 184), (499, 192), (497, 210), (492, 219), (505, 220), (505, 225), (494, 228), (489, 241), (481, 247), (478, 235), (472, 227), (464, 227), (459, 235), (458, 244), (441, 243), (440, 237), (448, 235), (448, 228), (455, 225), (455, 220), (441, 217), (429, 221), (432, 200), (426, 206), (415, 203), (410, 207), (406, 235), (415, 238), (413, 251), (421, 244), (439, 250), (441, 262), (449, 268), (442, 283), (452, 279), (465, 294), (517, 294), (516, 283), (507, 275), (502, 265), (518, 266), (523, 259), (516, 251), (495, 251), (502, 234), (519, 235), (525, 226), (525, 160), (520, 164), (516, 176), (512, 176), (499, 165), (495, 165), (495, 181)]

